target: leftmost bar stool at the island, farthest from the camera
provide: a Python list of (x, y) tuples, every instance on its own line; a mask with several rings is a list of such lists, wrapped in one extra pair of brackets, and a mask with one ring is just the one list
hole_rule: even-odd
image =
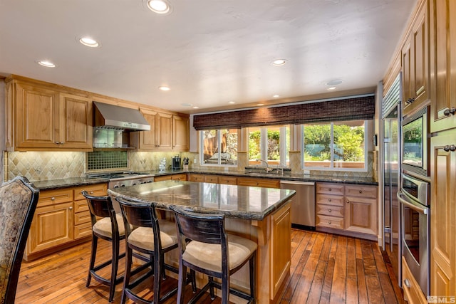
[[(82, 192), (88, 202), (90, 219), (92, 221), (92, 251), (90, 254), (90, 266), (86, 287), (90, 286), (90, 279), (93, 277), (98, 283), (109, 286), (109, 302), (113, 301), (115, 285), (123, 281), (123, 276), (117, 277), (118, 262), (125, 253), (119, 255), (120, 240), (125, 239), (125, 228), (121, 214), (115, 214), (113, 201), (110, 196), (91, 196), (86, 191)], [(98, 219), (101, 217), (102, 219)], [(98, 239), (112, 243), (112, 258), (95, 266)], [(106, 266), (111, 266), (110, 278), (103, 278), (97, 271)]]

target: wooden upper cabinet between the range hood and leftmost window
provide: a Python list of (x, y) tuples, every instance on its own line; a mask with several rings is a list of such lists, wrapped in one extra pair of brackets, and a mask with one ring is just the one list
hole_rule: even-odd
[(150, 131), (131, 132), (130, 142), (140, 151), (188, 151), (190, 119), (184, 115), (174, 115), (141, 108)]

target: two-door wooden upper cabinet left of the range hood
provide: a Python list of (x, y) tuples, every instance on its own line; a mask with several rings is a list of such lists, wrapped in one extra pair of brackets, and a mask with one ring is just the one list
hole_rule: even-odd
[(6, 116), (8, 150), (92, 149), (92, 103), (88, 98), (9, 80)]

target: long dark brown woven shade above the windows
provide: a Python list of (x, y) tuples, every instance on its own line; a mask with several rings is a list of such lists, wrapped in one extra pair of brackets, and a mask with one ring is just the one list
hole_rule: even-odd
[(239, 129), (263, 125), (303, 124), (341, 120), (371, 120), (375, 115), (373, 95), (271, 108), (195, 115), (196, 130)]

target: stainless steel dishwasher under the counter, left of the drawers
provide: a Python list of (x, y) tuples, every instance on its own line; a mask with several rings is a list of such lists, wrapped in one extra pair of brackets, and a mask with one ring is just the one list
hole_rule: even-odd
[(315, 182), (280, 181), (281, 189), (292, 189), (291, 226), (315, 229)]

